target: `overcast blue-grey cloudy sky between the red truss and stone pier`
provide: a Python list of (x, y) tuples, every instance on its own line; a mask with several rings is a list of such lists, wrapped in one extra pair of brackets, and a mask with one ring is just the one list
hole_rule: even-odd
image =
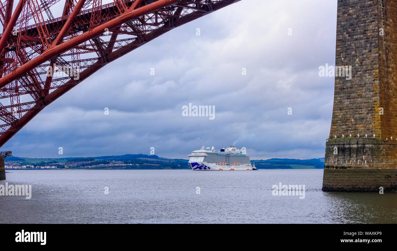
[[(335, 64), (336, 7), (336, 0), (242, 0), (215, 11), (106, 65), (2, 149), (94, 157), (154, 147), (160, 157), (187, 159), (203, 145), (235, 143), (251, 159), (324, 157), (334, 78), (319, 77), (318, 67)], [(189, 103), (214, 105), (215, 119), (183, 117)]]

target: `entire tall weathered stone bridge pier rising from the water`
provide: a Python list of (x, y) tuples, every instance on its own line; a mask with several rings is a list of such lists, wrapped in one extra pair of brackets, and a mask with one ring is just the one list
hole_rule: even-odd
[[(336, 66), (351, 65), (353, 73), (351, 80), (335, 77), (323, 190), (393, 189), (397, 181), (397, 1), (338, 0), (335, 59)], [(350, 134), (357, 138), (342, 139)], [(368, 138), (363, 138), (365, 134)]]

